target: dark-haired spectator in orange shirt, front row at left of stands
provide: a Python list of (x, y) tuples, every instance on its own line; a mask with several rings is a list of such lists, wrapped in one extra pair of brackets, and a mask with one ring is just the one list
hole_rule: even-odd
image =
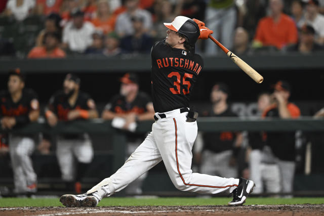
[(47, 32), (44, 36), (44, 46), (34, 47), (28, 58), (64, 58), (65, 52), (58, 47), (60, 39), (59, 33)]

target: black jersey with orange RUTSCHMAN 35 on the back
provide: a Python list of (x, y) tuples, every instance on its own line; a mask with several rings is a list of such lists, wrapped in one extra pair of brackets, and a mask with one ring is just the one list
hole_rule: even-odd
[(201, 56), (171, 48), (162, 40), (153, 45), (151, 61), (155, 112), (189, 107), (191, 92), (204, 66)]

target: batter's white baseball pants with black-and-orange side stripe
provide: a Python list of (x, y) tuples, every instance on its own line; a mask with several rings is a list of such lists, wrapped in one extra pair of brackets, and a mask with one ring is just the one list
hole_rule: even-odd
[[(104, 179), (87, 193), (98, 191), (100, 197), (110, 196), (124, 189), (158, 162), (163, 160), (174, 186), (181, 191), (201, 194), (231, 193), (239, 180), (192, 173), (192, 146), (197, 136), (197, 122), (186, 122), (180, 109), (164, 113), (152, 125), (152, 132), (135, 150), (123, 166), (110, 178)], [(216, 164), (215, 164), (216, 165)], [(103, 194), (100, 192), (105, 191)]]

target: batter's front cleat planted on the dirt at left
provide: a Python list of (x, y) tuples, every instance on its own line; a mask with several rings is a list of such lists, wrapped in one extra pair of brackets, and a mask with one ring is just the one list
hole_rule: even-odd
[(65, 194), (61, 196), (60, 202), (66, 207), (96, 207), (99, 200), (92, 194)]

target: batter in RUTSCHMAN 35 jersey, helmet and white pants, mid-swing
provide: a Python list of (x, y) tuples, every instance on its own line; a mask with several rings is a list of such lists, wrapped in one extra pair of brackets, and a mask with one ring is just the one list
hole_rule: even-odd
[(194, 53), (198, 38), (213, 31), (205, 23), (178, 16), (168, 28), (165, 40), (151, 50), (151, 87), (155, 122), (151, 133), (115, 174), (86, 194), (61, 196), (65, 206), (96, 206), (105, 196), (118, 192), (163, 160), (175, 187), (201, 194), (232, 193), (229, 205), (242, 205), (254, 187), (243, 178), (221, 178), (193, 173), (192, 146), (197, 136), (198, 113), (189, 110), (189, 101), (203, 59)]

